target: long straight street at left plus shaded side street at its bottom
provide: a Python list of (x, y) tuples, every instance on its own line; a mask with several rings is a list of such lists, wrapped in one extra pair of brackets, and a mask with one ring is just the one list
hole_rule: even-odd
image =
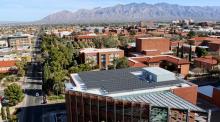
[[(39, 41), (35, 43), (36, 49), (33, 51), (33, 58), (35, 58), (36, 50), (39, 47)], [(64, 112), (65, 103), (59, 104), (41, 104), (42, 100), (42, 68), (38, 63), (32, 61), (28, 66), (26, 77), (27, 88), (25, 90), (24, 106), (18, 111), (19, 122), (55, 122), (54, 113)], [(39, 93), (39, 96), (36, 96)], [(65, 121), (66, 119), (63, 119)]]

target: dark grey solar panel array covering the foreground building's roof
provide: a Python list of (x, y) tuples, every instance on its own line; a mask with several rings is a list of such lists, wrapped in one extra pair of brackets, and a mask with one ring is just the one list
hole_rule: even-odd
[(131, 72), (135, 71), (144, 70), (142, 68), (127, 68), (97, 72), (81, 72), (78, 74), (88, 89), (101, 88), (106, 90), (108, 93), (150, 89), (183, 83), (183, 81), (180, 80), (149, 83), (147, 81), (140, 80), (137, 76), (131, 74)]

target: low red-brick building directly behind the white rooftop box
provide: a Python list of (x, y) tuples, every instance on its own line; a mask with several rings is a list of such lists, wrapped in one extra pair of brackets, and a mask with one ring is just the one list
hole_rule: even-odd
[(162, 67), (172, 72), (186, 76), (189, 73), (190, 63), (175, 56), (158, 55), (158, 56), (141, 56), (131, 57), (128, 59), (130, 67)]

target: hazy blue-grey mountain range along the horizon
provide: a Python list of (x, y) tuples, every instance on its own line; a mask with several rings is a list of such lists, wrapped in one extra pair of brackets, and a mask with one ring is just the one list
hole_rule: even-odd
[(60, 11), (32, 22), (34, 24), (107, 23), (136, 21), (196, 21), (220, 20), (220, 6), (182, 6), (177, 4), (130, 3), (106, 8), (81, 9), (76, 12)]

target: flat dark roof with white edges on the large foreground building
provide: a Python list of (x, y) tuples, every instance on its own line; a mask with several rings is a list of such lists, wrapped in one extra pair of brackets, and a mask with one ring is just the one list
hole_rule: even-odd
[[(171, 78), (172, 80), (162, 82), (149, 82), (147, 79), (143, 79), (144, 77), (139, 77), (134, 74), (146, 72), (146, 69), (147, 68), (126, 68), (118, 70), (80, 72), (77, 75), (71, 74), (71, 77), (74, 79), (74, 82), (82, 84), (83, 88), (86, 88), (86, 90), (101, 89), (107, 94), (173, 86), (179, 87), (187, 86), (186, 84), (188, 84), (188, 82), (176, 77)], [(170, 73), (169, 71), (164, 71), (162, 68), (160, 68), (160, 71), (159, 68), (149, 68), (149, 70), (153, 69), (155, 69), (153, 72), (157, 74)]]

